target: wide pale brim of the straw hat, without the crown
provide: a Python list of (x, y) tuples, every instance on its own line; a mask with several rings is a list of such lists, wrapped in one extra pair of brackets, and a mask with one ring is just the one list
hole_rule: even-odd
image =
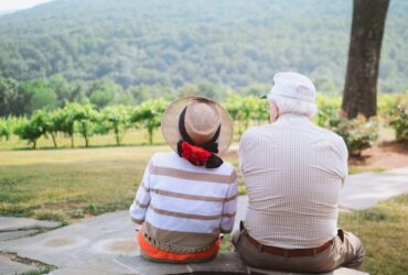
[(219, 112), (219, 138), (216, 141), (218, 143), (218, 153), (225, 153), (230, 143), (233, 142), (234, 135), (234, 123), (229, 117), (229, 113), (216, 101), (211, 100), (204, 97), (184, 97), (175, 100), (172, 102), (168, 109), (164, 111), (162, 120), (161, 120), (161, 131), (164, 138), (165, 143), (169, 146), (178, 151), (178, 142), (181, 140), (180, 131), (179, 131), (179, 119), (180, 114), (183, 109), (194, 100), (205, 100), (208, 103), (212, 103), (217, 108)]

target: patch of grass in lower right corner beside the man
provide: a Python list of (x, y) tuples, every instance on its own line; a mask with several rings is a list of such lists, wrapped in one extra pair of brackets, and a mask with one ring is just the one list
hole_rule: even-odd
[(365, 272), (408, 274), (408, 194), (367, 210), (342, 213), (339, 223), (362, 240)]

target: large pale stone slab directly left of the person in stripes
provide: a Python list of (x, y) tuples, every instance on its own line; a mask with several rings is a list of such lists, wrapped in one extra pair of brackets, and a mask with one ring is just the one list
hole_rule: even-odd
[[(139, 254), (128, 211), (110, 212), (34, 237), (0, 242), (0, 251), (58, 267), (128, 273), (116, 256)], [(89, 265), (92, 264), (92, 265)]]

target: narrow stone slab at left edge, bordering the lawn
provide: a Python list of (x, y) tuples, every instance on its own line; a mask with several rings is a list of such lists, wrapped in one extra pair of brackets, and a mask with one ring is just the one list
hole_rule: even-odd
[(0, 217), (0, 232), (14, 231), (14, 230), (28, 230), (33, 228), (57, 228), (60, 227), (57, 221), (42, 221), (25, 218), (13, 218), (13, 217)]

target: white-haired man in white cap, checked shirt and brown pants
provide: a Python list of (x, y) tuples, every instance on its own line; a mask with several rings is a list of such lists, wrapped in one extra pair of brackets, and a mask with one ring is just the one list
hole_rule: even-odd
[(315, 88), (305, 76), (279, 73), (268, 95), (271, 124), (246, 131), (239, 145), (249, 206), (233, 243), (249, 265), (319, 273), (359, 268), (361, 241), (337, 229), (347, 148), (314, 125)]

